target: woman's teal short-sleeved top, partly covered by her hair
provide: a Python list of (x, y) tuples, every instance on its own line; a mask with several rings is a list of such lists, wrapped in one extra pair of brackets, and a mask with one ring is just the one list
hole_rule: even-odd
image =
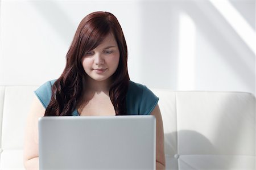
[[(35, 95), (38, 97), (44, 108), (47, 108), (52, 96), (52, 84), (56, 80), (44, 83), (37, 90)], [(152, 91), (142, 84), (129, 82), (129, 88), (126, 94), (126, 109), (129, 115), (148, 115), (155, 108), (159, 98)], [(77, 109), (73, 111), (73, 116), (79, 116)]]

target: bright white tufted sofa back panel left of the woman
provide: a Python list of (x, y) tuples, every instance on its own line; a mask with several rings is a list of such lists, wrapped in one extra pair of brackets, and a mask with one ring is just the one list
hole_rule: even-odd
[(10, 86), (5, 88), (2, 118), (2, 150), (21, 150), (24, 126), (30, 111), (36, 86)]

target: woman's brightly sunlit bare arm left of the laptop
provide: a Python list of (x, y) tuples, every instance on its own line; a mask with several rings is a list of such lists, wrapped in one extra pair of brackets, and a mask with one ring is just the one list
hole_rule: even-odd
[(37, 97), (34, 98), (30, 113), (27, 116), (25, 137), (24, 137), (24, 152), (23, 163), (27, 170), (39, 169), (38, 159), (38, 118), (44, 116), (43, 105)]

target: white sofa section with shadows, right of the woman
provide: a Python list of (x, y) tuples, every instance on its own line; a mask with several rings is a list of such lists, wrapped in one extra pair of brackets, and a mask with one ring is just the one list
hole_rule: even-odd
[(160, 98), (167, 169), (254, 169), (253, 95), (154, 92)]

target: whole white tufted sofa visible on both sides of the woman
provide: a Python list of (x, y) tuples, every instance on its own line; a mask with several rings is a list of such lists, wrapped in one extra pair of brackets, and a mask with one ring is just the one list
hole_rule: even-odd
[[(24, 124), (36, 86), (1, 86), (0, 169), (24, 169)], [(254, 169), (255, 97), (152, 90), (164, 124), (166, 169)]]

